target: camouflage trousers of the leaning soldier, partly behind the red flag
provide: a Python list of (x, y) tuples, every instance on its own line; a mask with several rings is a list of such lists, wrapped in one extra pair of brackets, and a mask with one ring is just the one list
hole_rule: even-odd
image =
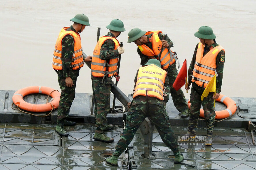
[(179, 89), (178, 91), (176, 91), (172, 87), (175, 79), (178, 76), (178, 70), (176, 69), (176, 63), (172, 64), (169, 67), (167, 76), (169, 78), (170, 94), (172, 96), (172, 101), (174, 103), (174, 106), (176, 107), (176, 109), (179, 112), (188, 110), (187, 101), (186, 101), (186, 98), (185, 98), (182, 90)]

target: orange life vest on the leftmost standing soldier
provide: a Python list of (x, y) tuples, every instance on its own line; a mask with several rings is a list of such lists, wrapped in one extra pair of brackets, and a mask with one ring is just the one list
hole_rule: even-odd
[(71, 62), (71, 68), (76, 70), (84, 65), (84, 59), (83, 59), (83, 49), (81, 46), (81, 38), (80, 35), (74, 31), (66, 31), (69, 27), (64, 27), (61, 29), (61, 32), (59, 33), (59, 36), (57, 38), (55, 49), (53, 52), (53, 58), (52, 58), (52, 67), (55, 70), (61, 70), (62, 69), (62, 61), (61, 61), (61, 49), (62, 49), (62, 39), (67, 34), (73, 36), (75, 47), (74, 47), (74, 54), (72, 57)]

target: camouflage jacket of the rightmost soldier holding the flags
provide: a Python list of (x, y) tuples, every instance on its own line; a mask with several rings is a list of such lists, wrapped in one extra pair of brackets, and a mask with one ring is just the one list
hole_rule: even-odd
[[(208, 53), (210, 51), (210, 49), (212, 49), (216, 46), (218, 46), (218, 44), (216, 43), (215, 40), (214, 40), (214, 43), (210, 47), (208, 45), (205, 45), (204, 55), (206, 55), (206, 53)], [(198, 47), (198, 44), (195, 47), (195, 51), (194, 51), (194, 54), (193, 54), (193, 57), (192, 57), (192, 61), (190, 63), (189, 70), (188, 70), (189, 85), (192, 83), (191, 80), (192, 80), (193, 69), (194, 69), (194, 66), (195, 66), (195, 58), (196, 58), (197, 47)], [(225, 63), (225, 52), (220, 51), (219, 54), (216, 57), (216, 66), (217, 66), (216, 72), (217, 72), (217, 75), (218, 75), (218, 77), (216, 78), (216, 93), (221, 92), (224, 63)]]

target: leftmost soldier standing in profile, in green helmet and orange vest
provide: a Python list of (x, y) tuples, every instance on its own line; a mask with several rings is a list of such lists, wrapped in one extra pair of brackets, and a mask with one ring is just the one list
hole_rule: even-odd
[(68, 136), (64, 126), (73, 126), (76, 122), (68, 121), (69, 110), (75, 98), (76, 79), (84, 61), (89, 62), (92, 56), (81, 58), (82, 47), (79, 33), (85, 26), (90, 26), (84, 14), (77, 14), (70, 21), (74, 24), (64, 27), (57, 38), (53, 54), (53, 69), (58, 74), (61, 97), (58, 107), (57, 126), (55, 131), (61, 136)]

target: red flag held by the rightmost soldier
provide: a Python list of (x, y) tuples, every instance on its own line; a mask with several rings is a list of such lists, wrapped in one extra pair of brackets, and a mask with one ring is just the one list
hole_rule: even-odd
[(176, 91), (179, 90), (182, 86), (184, 86), (184, 84), (186, 84), (186, 77), (187, 77), (187, 60), (183, 62), (180, 72), (172, 85)]

